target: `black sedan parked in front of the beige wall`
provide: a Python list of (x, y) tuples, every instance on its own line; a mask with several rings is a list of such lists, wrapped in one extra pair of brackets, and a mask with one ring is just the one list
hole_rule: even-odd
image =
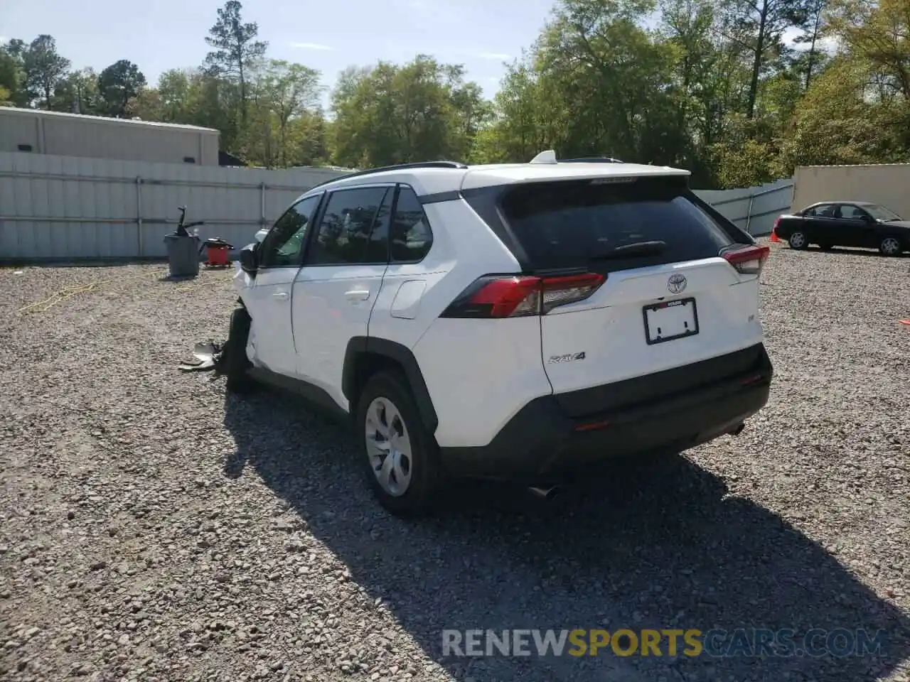
[(910, 249), (910, 221), (867, 201), (820, 201), (778, 217), (774, 234), (796, 249), (857, 246), (877, 248), (885, 256)]

